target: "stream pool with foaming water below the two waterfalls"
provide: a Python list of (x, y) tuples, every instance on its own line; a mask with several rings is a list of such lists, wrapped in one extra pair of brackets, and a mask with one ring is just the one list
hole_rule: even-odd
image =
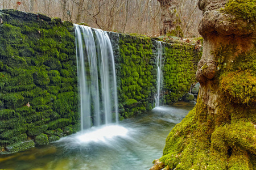
[(0, 169), (150, 169), (162, 156), (171, 129), (194, 107), (176, 103), (154, 108), (118, 125), (92, 128), (45, 146), (0, 155)]

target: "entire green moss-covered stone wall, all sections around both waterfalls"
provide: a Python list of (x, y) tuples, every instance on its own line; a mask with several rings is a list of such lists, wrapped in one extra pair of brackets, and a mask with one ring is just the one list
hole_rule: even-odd
[[(45, 145), (80, 129), (73, 24), (15, 10), (0, 11), (0, 153)], [(109, 32), (119, 119), (154, 108), (156, 41)], [(195, 82), (201, 52), (162, 42), (164, 104)]]

